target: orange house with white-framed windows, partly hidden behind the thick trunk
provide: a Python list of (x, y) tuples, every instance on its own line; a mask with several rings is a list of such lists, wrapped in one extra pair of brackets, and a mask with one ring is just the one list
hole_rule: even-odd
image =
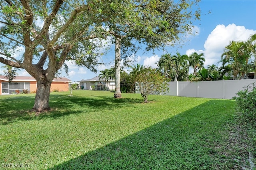
[[(70, 79), (59, 77), (52, 80), (51, 91), (68, 91), (68, 83)], [(19, 91), (28, 90), (28, 93), (36, 91), (36, 79), (31, 76), (16, 76), (14, 80), (9, 82), (4, 75), (0, 75), (0, 95), (15, 94)], [(18, 91), (17, 91), (18, 90)]]

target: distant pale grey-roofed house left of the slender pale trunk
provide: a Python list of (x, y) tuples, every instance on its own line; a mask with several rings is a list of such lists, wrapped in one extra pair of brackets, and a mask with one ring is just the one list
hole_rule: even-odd
[(99, 79), (98, 76), (92, 79), (80, 80), (80, 89), (84, 90), (115, 90), (116, 83), (115, 80), (110, 79), (107, 81), (105, 79)]

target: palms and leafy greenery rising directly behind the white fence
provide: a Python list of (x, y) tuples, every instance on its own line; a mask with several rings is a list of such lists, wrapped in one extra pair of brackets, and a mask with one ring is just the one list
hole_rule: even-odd
[[(204, 67), (204, 53), (190, 55), (164, 54), (158, 61), (158, 70), (168, 81), (210, 81), (222, 79), (247, 79), (247, 73), (254, 71), (256, 78), (256, 34), (248, 40), (232, 41), (220, 56), (220, 67)], [(189, 69), (193, 73), (189, 74)]]

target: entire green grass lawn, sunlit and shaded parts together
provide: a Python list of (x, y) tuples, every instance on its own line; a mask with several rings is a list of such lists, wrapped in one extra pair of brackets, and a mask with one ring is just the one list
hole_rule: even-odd
[(52, 111), (29, 112), (34, 94), (2, 95), (0, 163), (24, 169), (246, 167), (233, 100), (75, 90), (50, 94)]

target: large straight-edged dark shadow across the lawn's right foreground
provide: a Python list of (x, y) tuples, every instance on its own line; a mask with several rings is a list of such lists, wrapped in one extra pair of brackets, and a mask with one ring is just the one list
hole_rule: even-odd
[[(225, 113), (228, 102), (208, 101), (48, 170), (241, 169), (237, 155), (223, 153), (227, 148), (221, 145), (232, 117)], [(222, 112), (208, 113), (206, 108), (216, 103)]]

